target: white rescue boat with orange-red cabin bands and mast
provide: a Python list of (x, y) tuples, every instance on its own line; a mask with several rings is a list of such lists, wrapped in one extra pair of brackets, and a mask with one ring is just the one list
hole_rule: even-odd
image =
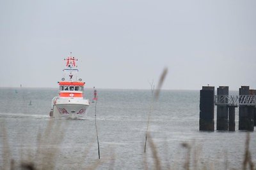
[(79, 71), (76, 65), (77, 59), (72, 53), (64, 60), (66, 63), (63, 69), (64, 76), (58, 82), (59, 96), (52, 99), (50, 117), (84, 119), (90, 106), (89, 100), (83, 97), (85, 82), (77, 77)]

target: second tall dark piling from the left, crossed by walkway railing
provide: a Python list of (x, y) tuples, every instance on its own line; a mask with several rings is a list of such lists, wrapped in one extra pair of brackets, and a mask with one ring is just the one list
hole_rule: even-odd
[(228, 86), (217, 88), (217, 95), (223, 96), (223, 101), (217, 105), (217, 131), (228, 131)]

